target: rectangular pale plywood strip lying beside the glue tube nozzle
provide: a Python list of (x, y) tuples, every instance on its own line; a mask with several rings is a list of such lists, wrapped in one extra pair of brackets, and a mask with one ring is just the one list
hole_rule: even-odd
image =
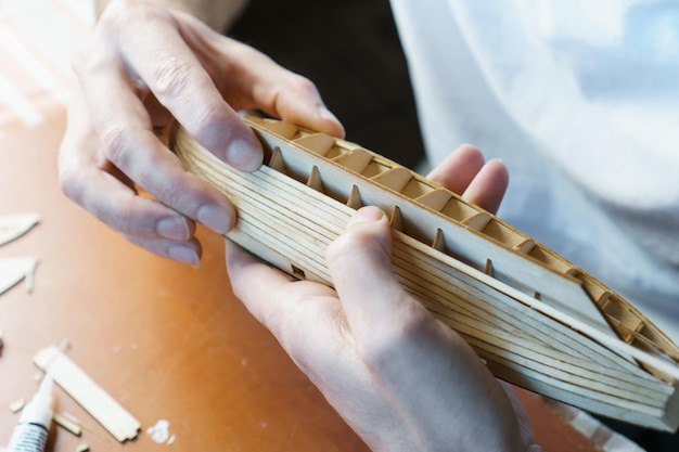
[(57, 347), (50, 346), (34, 357), (34, 363), (50, 375), (111, 435), (124, 442), (133, 439), (141, 424)]

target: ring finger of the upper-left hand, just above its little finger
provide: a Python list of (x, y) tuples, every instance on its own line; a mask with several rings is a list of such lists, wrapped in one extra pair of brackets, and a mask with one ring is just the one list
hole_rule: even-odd
[(184, 241), (195, 224), (161, 203), (140, 197), (126, 181), (105, 172), (104, 157), (88, 127), (80, 98), (68, 107), (68, 128), (59, 156), (59, 179), (64, 193), (114, 230), (140, 237)]

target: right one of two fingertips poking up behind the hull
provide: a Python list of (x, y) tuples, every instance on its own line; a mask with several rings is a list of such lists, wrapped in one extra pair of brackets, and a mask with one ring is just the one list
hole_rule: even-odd
[(462, 197), (490, 212), (497, 212), (509, 186), (509, 171), (501, 160), (489, 160), (469, 184)]

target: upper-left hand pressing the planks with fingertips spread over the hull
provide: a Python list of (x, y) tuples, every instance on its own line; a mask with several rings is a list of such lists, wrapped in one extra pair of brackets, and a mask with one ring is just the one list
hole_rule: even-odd
[(62, 189), (131, 242), (183, 262), (200, 260), (195, 221), (225, 233), (236, 214), (168, 151), (161, 135), (172, 117), (245, 171), (262, 154), (241, 109), (344, 133), (309, 80), (185, 12), (150, 2), (112, 1), (74, 68), (79, 90), (61, 146)]

